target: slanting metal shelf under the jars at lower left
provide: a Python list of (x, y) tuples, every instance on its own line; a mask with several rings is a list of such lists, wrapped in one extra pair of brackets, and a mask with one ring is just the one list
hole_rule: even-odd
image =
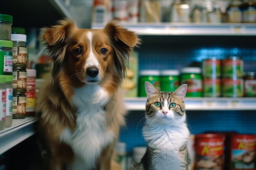
[(34, 123), (37, 117), (26, 117), (24, 119), (13, 119), (9, 128), (0, 131), (0, 154), (16, 146), (35, 133)]

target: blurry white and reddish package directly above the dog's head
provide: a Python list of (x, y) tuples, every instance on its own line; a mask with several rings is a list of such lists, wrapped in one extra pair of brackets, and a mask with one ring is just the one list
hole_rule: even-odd
[(107, 23), (113, 19), (113, 11), (113, 0), (94, 0), (92, 22)]

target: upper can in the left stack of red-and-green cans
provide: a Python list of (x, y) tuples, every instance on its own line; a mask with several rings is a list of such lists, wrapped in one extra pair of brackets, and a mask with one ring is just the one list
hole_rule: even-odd
[(203, 60), (202, 62), (202, 75), (203, 76), (214, 76), (220, 77), (220, 60), (217, 60), (216, 57), (211, 57), (210, 59)]

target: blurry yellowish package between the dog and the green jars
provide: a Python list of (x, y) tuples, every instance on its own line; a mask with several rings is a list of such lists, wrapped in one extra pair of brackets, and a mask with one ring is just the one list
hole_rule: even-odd
[(121, 85), (124, 97), (137, 97), (138, 95), (138, 58), (139, 54), (136, 51), (131, 53), (127, 74)]

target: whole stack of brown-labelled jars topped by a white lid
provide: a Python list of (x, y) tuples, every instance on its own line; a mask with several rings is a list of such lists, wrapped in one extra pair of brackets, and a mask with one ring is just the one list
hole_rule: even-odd
[(13, 119), (26, 117), (27, 35), (11, 34), (13, 42)]

